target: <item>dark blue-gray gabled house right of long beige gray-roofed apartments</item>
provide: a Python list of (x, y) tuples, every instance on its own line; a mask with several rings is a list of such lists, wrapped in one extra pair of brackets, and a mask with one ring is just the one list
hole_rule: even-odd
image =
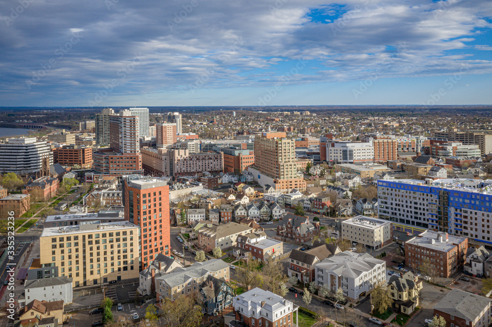
[(202, 313), (209, 316), (232, 305), (233, 297), (230, 285), (223, 278), (208, 275), (198, 286), (197, 298), (202, 304)]

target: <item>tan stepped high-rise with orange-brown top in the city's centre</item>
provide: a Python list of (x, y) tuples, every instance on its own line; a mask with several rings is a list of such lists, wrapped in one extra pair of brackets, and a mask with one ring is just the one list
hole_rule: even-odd
[(266, 177), (263, 178), (264, 183), (260, 176), (260, 185), (269, 184), (280, 192), (306, 189), (304, 178), (297, 176), (295, 141), (287, 138), (285, 132), (263, 133), (255, 137), (254, 167)]

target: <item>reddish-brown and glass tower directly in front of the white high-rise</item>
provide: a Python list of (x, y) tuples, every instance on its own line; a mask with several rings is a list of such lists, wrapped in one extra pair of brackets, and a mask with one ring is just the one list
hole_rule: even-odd
[(109, 146), (118, 153), (139, 153), (139, 117), (121, 110), (109, 119)]

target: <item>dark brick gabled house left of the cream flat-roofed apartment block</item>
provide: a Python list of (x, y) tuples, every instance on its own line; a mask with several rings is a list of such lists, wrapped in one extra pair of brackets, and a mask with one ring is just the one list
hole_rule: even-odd
[(311, 241), (319, 233), (319, 221), (310, 222), (307, 217), (292, 214), (285, 215), (277, 225), (277, 235), (300, 243)]

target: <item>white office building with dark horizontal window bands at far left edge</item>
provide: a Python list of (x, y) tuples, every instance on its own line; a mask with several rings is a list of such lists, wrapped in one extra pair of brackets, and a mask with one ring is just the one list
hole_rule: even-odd
[(36, 137), (9, 138), (0, 143), (0, 172), (35, 173), (44, 164), (53, 164), (53, 153), (46, 141)]

